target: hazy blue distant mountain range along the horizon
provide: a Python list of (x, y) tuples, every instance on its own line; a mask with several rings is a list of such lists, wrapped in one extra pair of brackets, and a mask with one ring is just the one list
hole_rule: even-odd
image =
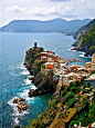
[(63, 32), (72, 35), (81, 27), (88, 23), (91, 19), (66, 21), (64, 19), (53, 19), (48, 21), (39, 20), (13, 20), (9, 24), (1, 27), (1, 32)]

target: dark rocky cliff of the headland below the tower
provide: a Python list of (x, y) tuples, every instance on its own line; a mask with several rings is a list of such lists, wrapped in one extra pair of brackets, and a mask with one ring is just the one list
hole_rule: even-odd
[(43, 51), (43, 48), (30, 48), (25, 52), (24, 65), (30, 71), (31, 76), (34, 76), (30, 79), (32, 79), (32, 82), (38, 88), (35, 90), (30, 89), (29, 97), (42, 95), (50, 90), (56, 89), (56, 82), (53, 82), (53, 71), (49, 71), (48, 75), (41, 72), (41, 66), (44, 63), (44, 61), (41, 60), (41, 51)]

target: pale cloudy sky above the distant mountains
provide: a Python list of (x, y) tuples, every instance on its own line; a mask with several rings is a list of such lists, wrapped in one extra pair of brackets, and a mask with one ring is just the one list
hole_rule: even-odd
[(12, 20), (94, 19), (95, 0), (0, 0), (0, 27)]

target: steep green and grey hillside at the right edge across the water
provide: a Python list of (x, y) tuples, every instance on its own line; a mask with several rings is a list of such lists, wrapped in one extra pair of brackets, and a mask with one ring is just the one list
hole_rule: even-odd
[(77, 41), (73, 45), (76, 50), (85, 51), (85, 56), (95, 52), (95, 19), (81, 28), (74, 36)]

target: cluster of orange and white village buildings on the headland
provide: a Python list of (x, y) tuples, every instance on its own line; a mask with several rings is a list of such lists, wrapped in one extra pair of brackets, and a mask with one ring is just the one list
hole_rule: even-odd
[[(68, 65), (70, 62), (81, 61), (77, 59), (67, 59), (56, 56), (52, 51), (41, 52), (41, 60), (44, 63), (41, 67), (41, 72), (48, 73), (50, 70), (53, 71), (53, 80), (59, 80), (56, 90), (62, 86), (70, 86), (71, 82), (81, 81), (82, 78), (88, 77), (91, 72), (95, 71), (95, 53), (92, 56), (92, 62), (86, 62), (84, 66)], [(85, 83), (92, 82), (93, 88), (95, 88), (95, 75), (89, 76), (85, 79)]]

